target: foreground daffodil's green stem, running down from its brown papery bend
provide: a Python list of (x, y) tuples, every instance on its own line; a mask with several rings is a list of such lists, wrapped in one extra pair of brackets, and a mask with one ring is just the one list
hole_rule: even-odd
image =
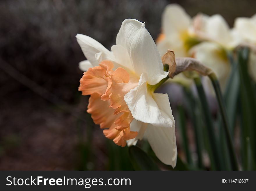
[(231, 160), (231, 167), (232, 167), (232, 170), (238, 170), (237, 157), (235, 155), (235, 151), (234, 151), (234, 147), (233, 147), (233, 143), (232, 143), (232, 139), (231, 139), (230, 128), (229, 128), (228, 119), (227, 119), (227, 113), (226, 113), (224, 101), (223, 101), (222, 94), (221, 94), (221, 88), (220, 88), (218, 79), (214, 73), (211, 73), (209, 75), (209, 78), (211, 79), (211, 83), (214, 87), (216, 97), (218, 100), (219, 109), (221, 111), (221, 117), (222, 117), (222, 122), (223, 122), (223, 126), (224, 126), (227, 147), (228, 147), (230, 160)]

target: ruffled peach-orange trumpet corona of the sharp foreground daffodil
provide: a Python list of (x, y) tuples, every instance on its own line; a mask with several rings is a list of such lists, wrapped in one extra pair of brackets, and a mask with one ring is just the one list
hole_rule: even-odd
[(95, 124), (105, 129), (106, 138), (124, 147), (127, 140), (138, 134), (130, 131), (133, 117), (124, 100), (125, 94), (138, 85), (138, 80), (130, 78), (125, 69), (113, 70), (113, 67), (111, 61), (102, 61), (99, 66), (88, 69), (80, 80), (79, 91), (82, 95), (91, 95), (87, 112), (92, 114)]

